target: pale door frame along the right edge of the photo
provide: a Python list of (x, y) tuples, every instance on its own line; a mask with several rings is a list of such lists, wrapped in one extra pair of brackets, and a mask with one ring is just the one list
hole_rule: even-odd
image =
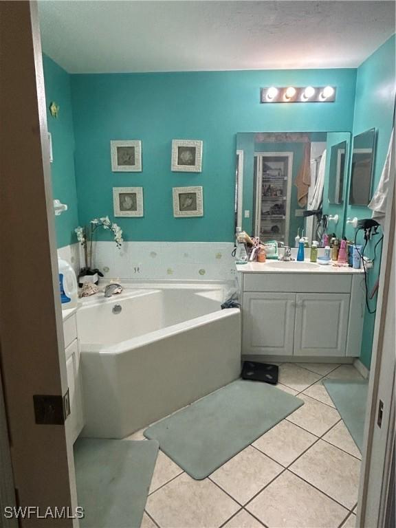
[[(392, 284), (396, 274), (395, 134), (391, 156), (357, 512), (357, 525), (370, 528), (384, 527), (391, 500), (389, 494), (394, 486), (391, 478), (395, 478), (395, 472), (391, 472), (395, 446), (396, 366), (395, 287)], [(381, 426), (377, 423), (380, 401), (384, 404)]]

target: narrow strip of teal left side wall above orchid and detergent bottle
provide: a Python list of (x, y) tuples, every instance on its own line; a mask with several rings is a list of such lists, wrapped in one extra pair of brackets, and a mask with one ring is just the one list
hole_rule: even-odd
[[(51, 164), (54, 198), (67, 203), (68, 210), (55, 217), (58, 248), (77, 241), (74, 228), (78, 225), (76, 175), (74, 171), (74, 124), (70, 75), (51, 58), (43, 56), (47, 126), (52, 134)], [(55, 101), (59, 107), (58, 118), (50, 114), (49, 106)]]

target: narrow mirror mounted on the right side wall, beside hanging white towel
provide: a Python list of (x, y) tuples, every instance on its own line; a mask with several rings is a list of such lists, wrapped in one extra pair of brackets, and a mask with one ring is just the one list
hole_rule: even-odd
[(353, 137), (349, 203), (367, 206), (371, 199), (375, 155), (375, 129)]

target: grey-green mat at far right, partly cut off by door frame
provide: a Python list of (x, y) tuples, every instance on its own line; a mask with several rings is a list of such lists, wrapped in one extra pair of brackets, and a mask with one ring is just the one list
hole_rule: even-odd
[(362, 452), (369, 382), (366, 380), (323, 380), (323, 384), (333, 404), (340, 412), (355, 444)]

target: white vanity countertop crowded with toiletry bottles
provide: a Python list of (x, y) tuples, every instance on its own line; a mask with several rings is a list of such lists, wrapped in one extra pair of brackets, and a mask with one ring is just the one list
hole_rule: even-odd
[[(267, 259), (266, 262), (249, 262), (247, 264), (236, 264), (236, 270), (241, 273), (305, 273), (305, 274), (362, 274), (364, 270), (355, 270), (349, 266), (337, 266), (332, 264), (320, 265), (305, 259), (304, 262), (297, 261), (272, 261)], [(336, 262), (335, 262), (336, 263)]]

